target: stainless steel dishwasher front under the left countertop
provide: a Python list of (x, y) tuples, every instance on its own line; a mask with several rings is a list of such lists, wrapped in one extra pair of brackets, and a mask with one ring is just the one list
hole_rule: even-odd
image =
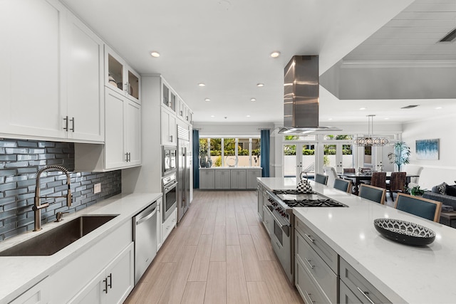
[(133, 217), (135, 285), (157, 254), (157, 201)]

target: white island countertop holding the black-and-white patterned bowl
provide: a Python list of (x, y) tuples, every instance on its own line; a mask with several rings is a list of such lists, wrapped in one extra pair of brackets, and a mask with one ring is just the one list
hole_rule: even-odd
[[(259, 181), (269, 189), (296, 187), (294, 178), (262, 177)], [(313, 181), (311, 185), (348, 208), (299, 207), (294, 208), (294, 215), (386, 298), (393, 303), (456, 303), (456, 229)], [(375, 230), (373, 221), (379, 218), (420, 224), (437, 236), (424, 247), (390, 241)]]

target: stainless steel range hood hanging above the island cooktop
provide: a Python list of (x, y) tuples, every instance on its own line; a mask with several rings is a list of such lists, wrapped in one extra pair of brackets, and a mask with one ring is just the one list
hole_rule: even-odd
[(284, 72), (284, 127), (279, 133), (341, 131), (337, 127), (318, 126), (318, 56), (293, 56)]

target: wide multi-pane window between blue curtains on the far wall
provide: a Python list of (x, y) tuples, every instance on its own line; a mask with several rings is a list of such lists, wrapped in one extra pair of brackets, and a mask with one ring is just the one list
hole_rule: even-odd
[(200, 167), (250, 167), (259, 166), (259, 138), (200, 138)]

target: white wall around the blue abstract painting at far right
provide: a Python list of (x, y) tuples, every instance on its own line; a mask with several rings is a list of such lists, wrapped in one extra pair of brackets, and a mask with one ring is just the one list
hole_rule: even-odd
[[(431, 189), (433, 186), (442, 182), (455, 184), (455, 120), (456, 114), (452, 114), (419, 122), (409, 122), (403, 125), (403, 141), (410, 145), (410, 164), (418, 164), (424, 168), (423, 172), (421, 172), (419, 182), (422, 188)], [(440, 140), (439, 159), (417, 159), (415, 140), (430, 139)]]

